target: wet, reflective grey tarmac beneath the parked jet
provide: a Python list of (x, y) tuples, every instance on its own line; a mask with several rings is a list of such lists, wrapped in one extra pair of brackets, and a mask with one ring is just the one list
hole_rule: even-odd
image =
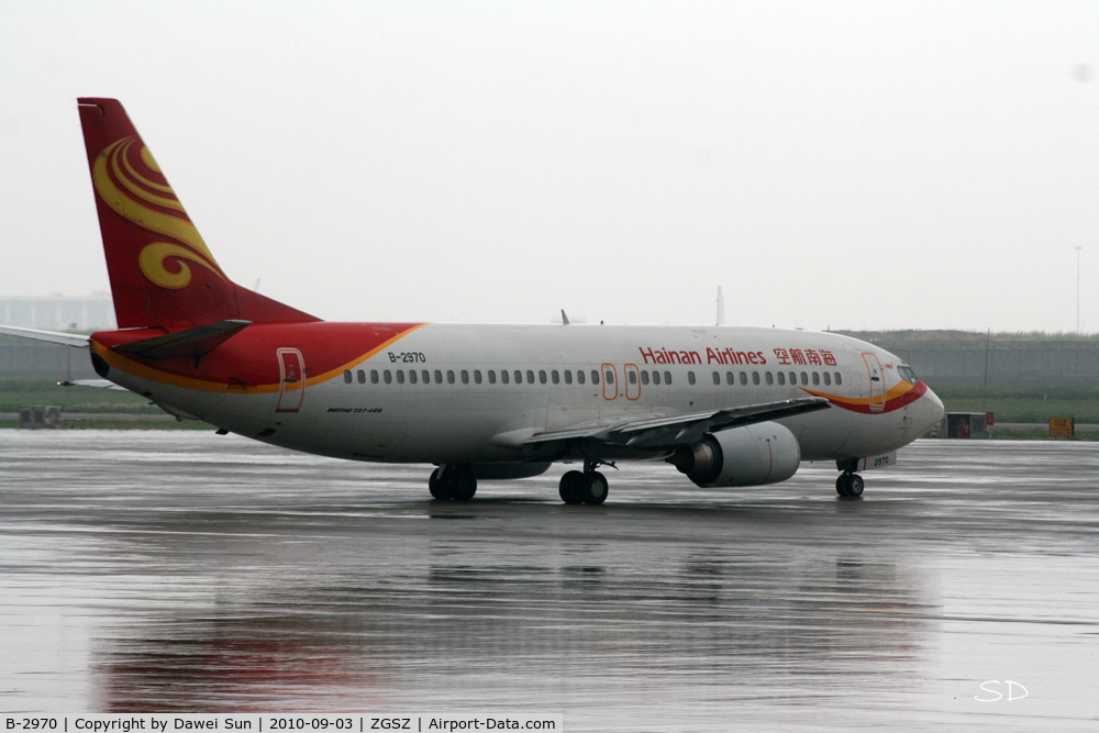
[(563, 470), (441, 504), (423, 466), (0, 431), (0, 710), (1099, 726), (1095, 443), (920, 441), (856, 500), (656, 464), (567, 507)]

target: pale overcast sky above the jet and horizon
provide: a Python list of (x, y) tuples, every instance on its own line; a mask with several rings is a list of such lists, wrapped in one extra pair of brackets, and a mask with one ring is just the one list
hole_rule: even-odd
[(79, 96), (330, 320), (1099, 331), (1099, 2), (4, 2), (0, 296), (108, 289)]

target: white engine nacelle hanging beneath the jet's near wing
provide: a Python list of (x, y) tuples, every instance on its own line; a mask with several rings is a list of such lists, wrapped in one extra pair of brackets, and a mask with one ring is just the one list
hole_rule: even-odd
[(785, 425), (761, 422), (710, 433), (668, 463), (699, 486), (762, 486), (793, 476), (801, 446)]

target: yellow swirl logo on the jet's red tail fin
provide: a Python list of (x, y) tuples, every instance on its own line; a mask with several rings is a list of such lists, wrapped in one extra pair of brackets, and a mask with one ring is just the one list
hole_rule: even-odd
[[(96, 159), (91, 178), (96, 191), (112, 211), (146, 231), (175, 240), (153, 242), (141, 251), (137, 265), (142, 274), (162, 288), (179, 290), (191, 281), (187, 264), (191, 262), (226, 279), (171, 187), (156, 182), (135, 167), (130, 151), (140, 141), (134, 136), (111, 143)], [(147, 147), (142, 146), (136, 157), (144, 168), (163, 179)], [(166, 266), (169, 258), (176, 271)]]

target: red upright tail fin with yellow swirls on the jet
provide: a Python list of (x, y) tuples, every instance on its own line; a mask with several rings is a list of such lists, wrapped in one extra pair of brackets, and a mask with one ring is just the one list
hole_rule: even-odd
[(122, 104), (77, 101), (120, 329), (319, 320), (230, 280)]

